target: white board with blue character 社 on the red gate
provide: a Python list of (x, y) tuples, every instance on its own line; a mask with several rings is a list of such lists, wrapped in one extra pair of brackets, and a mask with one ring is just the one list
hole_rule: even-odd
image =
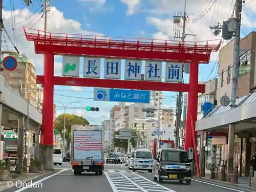
[(162, 61), (146, 61), (145, 80), (146, 81), (162, 80)]

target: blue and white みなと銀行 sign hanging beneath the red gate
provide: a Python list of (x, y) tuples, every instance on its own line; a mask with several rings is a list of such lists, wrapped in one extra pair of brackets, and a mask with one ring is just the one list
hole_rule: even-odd
[(150, 103), (150, 91), (94, 88), (93, 100)]

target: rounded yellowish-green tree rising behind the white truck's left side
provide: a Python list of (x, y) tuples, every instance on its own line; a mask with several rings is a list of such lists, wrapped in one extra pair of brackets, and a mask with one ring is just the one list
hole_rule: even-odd
[[(71, 125), (73, 124), (90, 124), (86, 118), (78, 115), (72, 115), (66, 113), (66, 132), (65, 139), (67, 141), (67, 150), (70, 146), (71, 141)], [(59, 115), (54, 121), (54, 129), (61, 135), (63, 139), (63, 128), (64, 128), (64, 114)]]

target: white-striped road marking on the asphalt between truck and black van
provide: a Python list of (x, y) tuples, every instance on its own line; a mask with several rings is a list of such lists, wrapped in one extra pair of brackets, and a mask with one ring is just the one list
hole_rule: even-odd
[(176, 192), (129, 170), (105, 170), (113, 192)]

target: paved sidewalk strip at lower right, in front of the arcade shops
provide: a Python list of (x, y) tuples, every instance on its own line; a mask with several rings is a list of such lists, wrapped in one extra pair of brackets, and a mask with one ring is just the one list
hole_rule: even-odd
[(217, 179), (210, 179), (210, 172), (209, 172), (209, 170), (206, 170), (205, 177), (202, 177), (200, 179), (195, 177), (193, 179), (196, 181), (199, 181), (199, 182), (210, 183), (212, 185), (219, 185), (219, 186), (222, 186), (223, 188), (232, 188), (237, 191), (245, 191), (245, 192), (255, 192), (256, 191), (256, 188), (249, 186), (249, 182), (250, 182), (249, 177), (239, 177), (238, 183), (234, 184), (234, 183), (229, 183), (226, 181), (219, 181)]

